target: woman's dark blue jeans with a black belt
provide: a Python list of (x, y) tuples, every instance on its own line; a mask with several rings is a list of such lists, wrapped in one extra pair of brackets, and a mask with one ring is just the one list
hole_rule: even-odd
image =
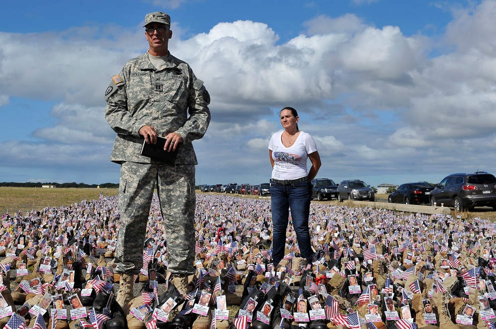
[(293, 228), (298, 240), (301, 257), (311, 262), (309, 215), (311, 183), (300, 182), (291, 185), (270, 183), (270, 204), (272, 208), (272, 263), (277, 266), (284, 257), (286, 230), (289, 210)]

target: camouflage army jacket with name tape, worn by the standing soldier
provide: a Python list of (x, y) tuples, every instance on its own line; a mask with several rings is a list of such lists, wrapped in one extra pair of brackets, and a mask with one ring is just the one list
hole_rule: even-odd
[(189, 65), (169, 53), (158, 70), (148, 53), (128, 61), (105, 92), (105, 118), (117, 133), (111, 161), (150, 163), (140, 155), (138, 131), (150, 125), (160, 136), (176, 132), (183, 143), (176, 164), (197, 164), (191, 141), (203, 137), (210, 122), (210, 96)]

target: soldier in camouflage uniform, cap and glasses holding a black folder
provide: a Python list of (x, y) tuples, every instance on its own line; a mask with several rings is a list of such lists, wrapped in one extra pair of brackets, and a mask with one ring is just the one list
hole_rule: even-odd
[[(189, 65), (169, 53), (171, 19), (162, 12), (145, 16), (147, 53), (128, 61), (105, 92), (105, 118), (117, 138), (111, 161), (121, 164), (121, 230), (116, 272), (121, 275), (118, 301), (132, 299), (132, 275), (142, 267), (146, 223), (155, 183), (167, 231), (168, 269), (172, 280), (193, 274), (194, 165), (191, 142), (203, 137), (210, 122), (210, 96)], [(164, 149), (178, 150), (175, 164), (140, 155), (143, 138)], [(184, 292), (184, 291), (183, 291)]]

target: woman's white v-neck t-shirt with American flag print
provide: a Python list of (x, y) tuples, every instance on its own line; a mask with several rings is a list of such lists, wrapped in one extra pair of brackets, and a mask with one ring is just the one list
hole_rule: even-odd
[(282, 133), (283, 131), (275, 133), (269, 141), (269, 150), (272, 151), (274, 160), (272, 178), (295, 180), (307, 176), (308, 155), (317, 150), (315, 141), (310, 134), (300, 131), (294, 144), (286, 147), (282, 143)]

